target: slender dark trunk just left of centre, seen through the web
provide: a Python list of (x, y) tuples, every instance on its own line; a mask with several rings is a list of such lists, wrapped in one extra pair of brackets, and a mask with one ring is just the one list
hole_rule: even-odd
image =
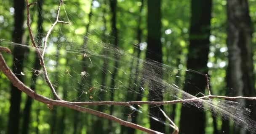
[[(117, 41), (118, 41), (118, 37), (117, 37), (117, 20), (116, 20), (116, 16), (117, 16), (117, 0), (110, 0), (110, 9), (111, 9), (111, 13), (112, 13), (112, 24), (111, 24), (111, 27), (112, 27), (112, 36), (114, 36), (114, 47), (116, 48), (117, 47)], [(115, 59), (115, 63), (114, 63), (114, 70), (112, 72), (112, 75), (111, 75), (111, 84), (110, 84), (110, 89), (111, 89), (111, 93), (110, 93), (110, 101), (114, 101), (114, 95), (115, 95), (115, 78), (116, 78), (116, 75), (117, 75), (117, 67), (118, 67), (118, 62), (117, 62), (117, 59), (118, 59), (118, 56), (117, 54), (115, 53), (114, 54), (114, 59)], [(113, 114), (113, 111), (114, 111), (114, 106), (111, 105), (110, 106), (110, 115)], [(113, 130), (113, 125), (112, 125), (112, 121), (109, 120), (109, 130), (108, 130), (108, 133), (112, 132)]]

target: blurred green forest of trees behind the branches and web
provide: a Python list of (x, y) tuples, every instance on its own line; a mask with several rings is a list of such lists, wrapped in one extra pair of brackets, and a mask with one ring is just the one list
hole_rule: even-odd
[[(30, 7), (31, 26), (36, 41), (42, 44), (56, 20), (60, 1), (29, 2), (37, 2)], [(3, 55), (20, 80), (53, 98), (35, 50), (29, 47), (26, 18), (25, 0), (0, 0), (0, 45), (12, 50), (12, 54)], [(65, 0), (60, 20), (69, 24), (53, 28), (45, 64), (64, 100), (175, 99), (165, 94), (168, 88), (151, 80), (155, 78), (202, 96), (198, 93), (207, 94), (203, 74), (209, 75), (214, 95), (256, 96), (256, 0)], [(141, 59), (157, 62), (147, 64)], [(151, 67), (153, 63), (159, 67)], [(148, 84), (144, 77), (149, 77)], [(106, 93), (94, 92), (96, 89)], [(255, 102), (240, 100), (240, 104), (252, 110), (250, 116), (255, 120)], [(158, 107), (142, 105), (150, 107), (143, 114), (125, 106), (88, 107), (166, 134), (173, 131), (164, 125), (165, 117)], [(250, 133), (232, 119), (194, 106), (178, 103), (159, 107), (179, 126), (180, 134)], [(13, 87), (2, 72), (0, 122), (0, 134), (142, 133), (87, 113), (48, 108)]]

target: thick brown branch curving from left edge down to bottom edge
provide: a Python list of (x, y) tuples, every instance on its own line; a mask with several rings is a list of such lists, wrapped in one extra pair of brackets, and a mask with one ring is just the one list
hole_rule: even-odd
[(19, 90), (23, 91), (24, 93), (26, 93), (28, 96), (30, 96), (31, 98), (34, 98), (37, 101), (40, 101), (42, 103), (48, 104), (48, 105), (55, 105), (55, 106), (64, 106), (67, 108), (71, 108), (77, 111), (81, 111), (81, 112), (88, 112), (91, 113), (93, 115), (105, 118), (105, 119), (109, 119), (112, 121), (115, 121), (117, 123), (119, 123), (120, 125), (123, 126), (127, 126), (127, 127), (131, 127), (133, 129), (139, 129), (141, 131), (147, 132), (149, 134), (162, 134), (160, 132), (145, 128), (143, 126), (137, 125), (137, 124), (133, 124), (131, 122), (128, 121), (124, 121), (122, 119), (119, 119), (115, 116), (109, 115), (107, 113), (103, 113), (100, 111), (96, 111), (90, 108), (85, 108), (85, 107), (81, 107), (75, 104), (71, 104), (71, 103), (67, 103), (66, 101), (55, 101), (49, 98), (45, 98), (44, 96), (35, 93), (35, 91), (31, 90), (29, 87), (27, 87), (26, 85), (24, 85), (23, 82), (21, 82), (14, 74), (13, 72), (10, 70), (10, 68), (7, 66), (2, 54), (0, 53), (0, 70), (3, 71), (3, 73), (5, 74), (6, 77), (8, 77), (8, 79), (12, 82), (12, 84), (17, 87)]

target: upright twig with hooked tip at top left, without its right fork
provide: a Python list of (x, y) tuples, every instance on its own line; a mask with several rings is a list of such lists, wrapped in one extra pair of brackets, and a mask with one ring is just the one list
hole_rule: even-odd
[(46, 70), (46, 67), (45, 67), (45, 63), (44, 63), (44, 60), (43, 60), (43, 54), (41, 54), (40, 50), (38, 49), (36, 43), (35, 43), (35, 38), (33, 36), (33, 33), (32, 33), (32, 30), (31, 30), (31, 26), (30, 26), (30, 13), (29, 13), (29, 7), (33, 4), (36, 4), (36, 3), (31, 3), (29, 4), (28, 0), (26, 0), (27, 2), (27, 26), (28, 26), (28, 30), (29, 30), (29, 37), (30, 37), (30, 40), (32, 42), (32, 46), (34, 46), (36, 48), (36, 51), (37, 51), (37, 55), (40, 59), (40, 64), (41, 66), (43, 67), (43, 72), (44, 72), (44, 76), (45, 76), (45, 81), (47, 82), (47, 84), (49, 85), (49, 87), (51, 88), (51, 91), (53, 92), (53, 96), (56, 100), (61, 100), (61, 98), (59, 97), (59, 95), (56, 93), (55, 89), (53, 88), (53, 85), (51, 84), (51, 81), (48, 77), (48, 73), (47, 73), (47, 70)]

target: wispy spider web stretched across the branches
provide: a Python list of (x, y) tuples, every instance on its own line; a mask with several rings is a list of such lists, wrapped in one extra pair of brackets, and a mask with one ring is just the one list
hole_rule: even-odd
[[(65, 7), (65, 6), (63, 6)], [(96, 7), (95, 7), (96, 8)], [(111, 42), (114, 37), (106, 33), (102, 22), (92, 20), (95, 26), (85, 36), (84, 27), (77, 28), (76, 20), (81, 18), (81, 13), (75, 13), (64, 9), (61, 13), (61, 20), (66, 20), (69, 25), (58, 24), (48, 39), (48, 46), (45, 53), (45, 66), (48, 75), (57, 93), (66, 101), (111, 101), (113, 95), (114, 101), (148, 101), (149, 90), (152, 90), (156, 96), (156, 100), (186, 100), (196, 98), (183, 91), (185, 83), (191, 84), (195, 90), (200, 90), (197, 85), (190, 81), (184, 81), (184, 75), (189, 72), (192, 74), (204, 74), (194, 70), (179, 69), (171, 65), (146, 60), (145, 52), (147, 51), (147, 43), (133, 44), (125, 39), (119, 40), (119, 44), (128, 44), (128, 46), (120, 45), (115, 48)], [(49, 16), (48, 13), (42, 16)], [(48, 21), (54, 22), (54, 12), (51, 11)], [(96, 18), (96, 16), (94, 16)], [(45, 27), (47, 30), (48, 25)], [(122, 31), (122, 30), (120, 30)], [(45, 36), (45, 35), (44, 35)], [(85, 39), (87, 40), (85, 44)], [(44, 39), (37, 40), (43, 42)], [(32, 81), (32, 75), (37, 75), (36, 92), (45, 96), (49, 96), (50, 88), (44, 81), (43, 70), (35, 70), (33, 62), (35, 61), (35, 49), (31, 45), (17, 44), (7, 39), (0, 39), (1, 46), (13, 48), (13, 46), (24, 47), (29, 50), (24, 71), (16, 75), (24, 75), (28, 80), (26, 84)], [(42, 45), (40, 46), (43, 52)], [(137, 57), (136, 52), (141, 51), (141, 56)], [(32, 56), (31, 56), (32, 55)], [(115, 55), (118, 58), (115, 58)], [(7, 56), (7, 55), (6, 55)], [(112, 79), (114, 73), (114, 63), (117, 62), (118, 67), (115, 79)], [(156, 73), (157, 72), (157, 73)], [(160, 74), (159, 74), (160, 73)], [(29, 82), (29, 80), (31, 80)], [(111, 82), (115, 85), (111, 87)], [(149, 88), (150, 82), (155, 83), (156, 89)], [(142, 84), (143, 83), (143, 84)], [(159, 91), (158, 89), (162, 89)], [(163, 93), (159, 93), (163, 92)], [(207, 92), (205, 92), (207, 93)], [(162, 96), (157, 96), (163, 94)], [(204, 94), (204, 93), (201, 93)], [(205, 111), (211, 111), (215, 116), (221, 116), (224, 119), (232, 119), (235, 124), (243, 126), (252, 133), (255, 133), (255, 121), (249, 117), (250, 110), (244, 108), (240, 103), (235, 101), (225, 101), (216, 99), (195, 99), (193, 101), (184, 101), (184, 105), (196, 106)], [(88, 106), (97, 109), (96, 106)], [(104, 106), (104, 112), (109, 112), (110, 106)], [(148, 105), (131, 105), (131, 106), (115, 106), (112, 113), (126, 121), (131, 121), (134, 112), (139, 113), (142, 118), (148, 116), (156, 121), (170, 126), (170, 122), (158, 119), (149, 112)], [(169, 105), (165, 105), (163, 112), (170, 115)], [(177, 122), (177, 121), (176, 121)], [(139, 124), (144, 122), (139, 121)]]

